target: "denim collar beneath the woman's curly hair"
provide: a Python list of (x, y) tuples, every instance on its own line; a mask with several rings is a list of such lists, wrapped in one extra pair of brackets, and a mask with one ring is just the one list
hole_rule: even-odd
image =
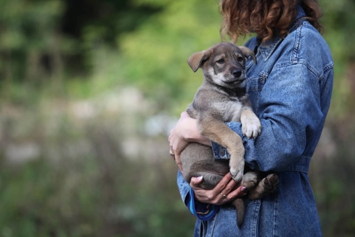
[[(298, 5), (296, 19), (289, 27), (290, 32), (294, 31), (294, 29), (296, 28), (295, 26), (297, 26), (299, 24), (299, 22), (303, 21), (304, 17), (306, 17), (306, 13), (304, 13), (304, 10), (301, 7), (301, 5)], [(274, 52), (274, 50), (276, 49), (278, 44), (281, 43), (282, 40), (283, 40), (283, 38), (276, 36), (270, 40), (267, 40), (264, 44), (261, 44), (261, 40), (259, 38), (257, 39), (258, 50), (259, 50), (260, 54), (262, 55), (262, 58), (265, 61), (267, 61), (267, 59), (269, 59), (269, 56), (271, 56), (271, 54)]]

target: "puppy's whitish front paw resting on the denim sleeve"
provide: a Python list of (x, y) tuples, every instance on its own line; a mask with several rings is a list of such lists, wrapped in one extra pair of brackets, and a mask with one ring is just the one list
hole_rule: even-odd
[(246, 137), (258, 137), (261, 131), (261, 123), (258, 116), (254, 114), (251, 108), (243, 110), (240, 116), (240, 122), (242, 123), (242, 132)]

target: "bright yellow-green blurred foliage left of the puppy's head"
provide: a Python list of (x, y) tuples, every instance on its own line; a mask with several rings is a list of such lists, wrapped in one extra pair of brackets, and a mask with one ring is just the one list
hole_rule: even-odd
[(164, 12), (148, 19), (139, 31), (119, 38), (125, 78), (153, 97), (158, 109), (173, 105), (181, 111), (191, 101), (203, 76), (194, 75), (187, 59), (221, 41), (217, 6), (216, 1), (168, 1)]

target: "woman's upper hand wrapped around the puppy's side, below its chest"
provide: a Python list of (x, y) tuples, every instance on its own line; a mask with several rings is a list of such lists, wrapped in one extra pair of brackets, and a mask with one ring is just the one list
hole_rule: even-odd
[(198, 142), (211, 146), (211, 142), (206, 137), (200, 135), (197, 128), (197, 120), (192, 119), (187, 112), (182, 112), (175, 128), (170, 131), (169, 135), (170, 153), (175, 159), (180, 171), (182, 166), (180, 162), (180, 154), (189, 142)]

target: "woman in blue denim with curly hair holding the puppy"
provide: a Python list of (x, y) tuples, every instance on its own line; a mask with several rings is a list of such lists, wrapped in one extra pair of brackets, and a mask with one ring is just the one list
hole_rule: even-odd
[[(247, 91), (262, 123), (255, 140), (243, 137), (246, 164), (278, 174), (278, 189), (256, 201), (246, 200), (244, 224), (238, 229), (228, 202), (242, 197), (227, 174), (214, 188), (202, 190), (203, 177), (186, 183), (178, 172), (184, 204), (198, 217), (196, 236), (321, 236), (315, 199), (308, 180), (310, 158), (324, 126), (333, 86), (333, 60), (319, 34), (316, 0), (222, 0), (221, 33), (236, 41), (255, 33), (246, 46), (258, 63), (248, 61)], [(241, 124), (228, 126), (242, 137)], [(198, 133), (186, 113), (169, 136), (171, 154), (189, 142), (210, 144), (215, 158), (228, 159), (226, 149)], [(179, 166), (180, 167), (180, 166)], [(223, 198), (226, 197), (226, 198)]]

